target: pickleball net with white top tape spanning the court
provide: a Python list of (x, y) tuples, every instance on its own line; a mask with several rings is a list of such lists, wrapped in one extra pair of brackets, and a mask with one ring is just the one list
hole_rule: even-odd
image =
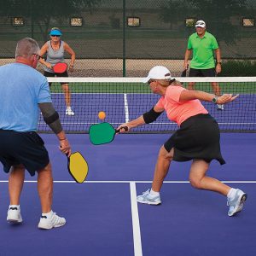
[[(189, 81), (196, 82), (195, 90), (212, 93), (211, 82), (218, 82), (222, 93), (239, 94), (235, 102), (224, 105), (218, 110), (212, 102), (202, 102), (208, 112), (218, 121), (221, 131), (256, 131), (256, 78), (180, 78), (183, 86)], [(98, 113), (104, 111), (113, 127), (136, 119), (154, 107), (159, 95), (151, 93), (148, 84), (141, 78), (50, 78), (52, 100), (60, 114), (63, 129), (68, 133), (87, 133), (90, 125), (102, 122)], [(60, 82), (67, 82), (71, 91), (71, 107), (75, 115), (66, 114), (65, 94)], [(132, 130), (136, 133), (167, 133), (177, 130), (173, 123), (162, 113), (154, 123), (139, 126)], [(38, 119), (39, 132), (51, 132), (45, 125), (42, 115)]]

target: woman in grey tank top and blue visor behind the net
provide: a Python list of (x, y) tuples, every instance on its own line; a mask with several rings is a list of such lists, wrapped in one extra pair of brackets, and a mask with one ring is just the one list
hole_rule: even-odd
[[(61, 40), (61, 30), (57, 27), (53, 27), (50, 32), (50, 40), (47, 41), (40, 50), (40, 55), (47, 55), (46, 61), (41, 58), (39, 61), (44, 65), (44, 76), (45, 77), (68, 77), (67, 71), (64, 73), (54, 73), (52, 67), (58, 62), (64, 61), (64, 54), (67, 51), (71, 55), (71, 61), (68, 71), (73, 72), (73, 64), (75, 61), (75, 53), (73, 49), (64, 41)], [(50, 85), (50, 83), (49, 83)], [(71, 93), (67, 83), (61, 83), (62, 90), (65, 94), (65, 101), (67, 105), (66, 114), (74, 115), (71, 108)]]

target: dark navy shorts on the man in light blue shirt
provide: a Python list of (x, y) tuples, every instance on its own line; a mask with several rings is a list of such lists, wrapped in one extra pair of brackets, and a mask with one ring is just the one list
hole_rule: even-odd
[(4, 172), (22, 164), (34, 176), (49, 164), (49, 155), (37, 132), (0, 130), (0, 161)]

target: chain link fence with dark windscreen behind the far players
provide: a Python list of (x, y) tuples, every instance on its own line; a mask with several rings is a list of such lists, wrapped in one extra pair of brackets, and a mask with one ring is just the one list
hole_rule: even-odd
[[(255, 65), (256, 0), (0, 0), (0, 4), (0, 65), (13, 61), (20, 38), (35, 38), (42, 46), (49, 40), (49, 29), (57, 26), (61, 39), (76, 53), (72, 76), (139, 77), (154, 65), (165, 65), (178, 76), (196, 20), (207, 22), (224, 62)], [(226, 73), (237, 72), (239, 68), (230, 68)], [(256, 75), (255, 68), (249, 75)]]

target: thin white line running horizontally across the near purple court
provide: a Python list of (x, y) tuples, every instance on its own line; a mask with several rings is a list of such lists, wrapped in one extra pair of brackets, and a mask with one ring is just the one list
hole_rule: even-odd
[[(25, 183), (37, 183), (36, 180), (26, 180)], [(222, 183), (256, 183), (255, 180), (222, 180)], [(0, 183), (8, 183), (8, 180), (0, 180)], [(74, 180), (55, 180), (54, 183), (76, 183)], [(152, 180), (88, 180), (84, 183), (152, 183)], [(164, 183), (189, 183), (189, 181), (164, 181)]]

